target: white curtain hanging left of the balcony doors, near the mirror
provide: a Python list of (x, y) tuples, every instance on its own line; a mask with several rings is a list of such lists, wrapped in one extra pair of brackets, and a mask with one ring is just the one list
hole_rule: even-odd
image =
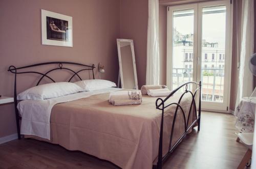
[(146, 85), (159, 85), (158, 0), (148, 0)]

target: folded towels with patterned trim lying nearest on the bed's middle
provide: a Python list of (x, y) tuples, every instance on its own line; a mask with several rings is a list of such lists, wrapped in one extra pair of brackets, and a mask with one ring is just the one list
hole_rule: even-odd
[(117, 91), (111, 92), (109, 102), (113, 105), (135, 105), (141, 104), (140, 91)]

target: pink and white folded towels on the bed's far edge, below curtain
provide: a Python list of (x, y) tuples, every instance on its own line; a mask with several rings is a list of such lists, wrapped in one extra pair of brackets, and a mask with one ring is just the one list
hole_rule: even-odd
[(143, 95), (153, 97), (168, 96), (171, 92), (172, 91), (164, 85), (144, 85), (141, 87), (141, 93)]

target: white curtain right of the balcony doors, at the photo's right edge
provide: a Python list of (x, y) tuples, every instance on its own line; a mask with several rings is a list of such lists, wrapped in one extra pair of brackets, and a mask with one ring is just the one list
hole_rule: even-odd
[(254, 42), (254, 0), (242, 1), (240, 69), (236, 108), (243, 97), (253, 91), (253, 75), (249, 70), (249, 59), (253, 54)]

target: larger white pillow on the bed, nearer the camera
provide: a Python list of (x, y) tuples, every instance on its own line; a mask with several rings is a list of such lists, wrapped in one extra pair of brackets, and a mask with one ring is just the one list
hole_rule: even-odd
[(44, 100), (73, 93), (82, 92), (83, 90), (72, 82), (53, 82), (30, 88), (18, 94), (18, 100)]

